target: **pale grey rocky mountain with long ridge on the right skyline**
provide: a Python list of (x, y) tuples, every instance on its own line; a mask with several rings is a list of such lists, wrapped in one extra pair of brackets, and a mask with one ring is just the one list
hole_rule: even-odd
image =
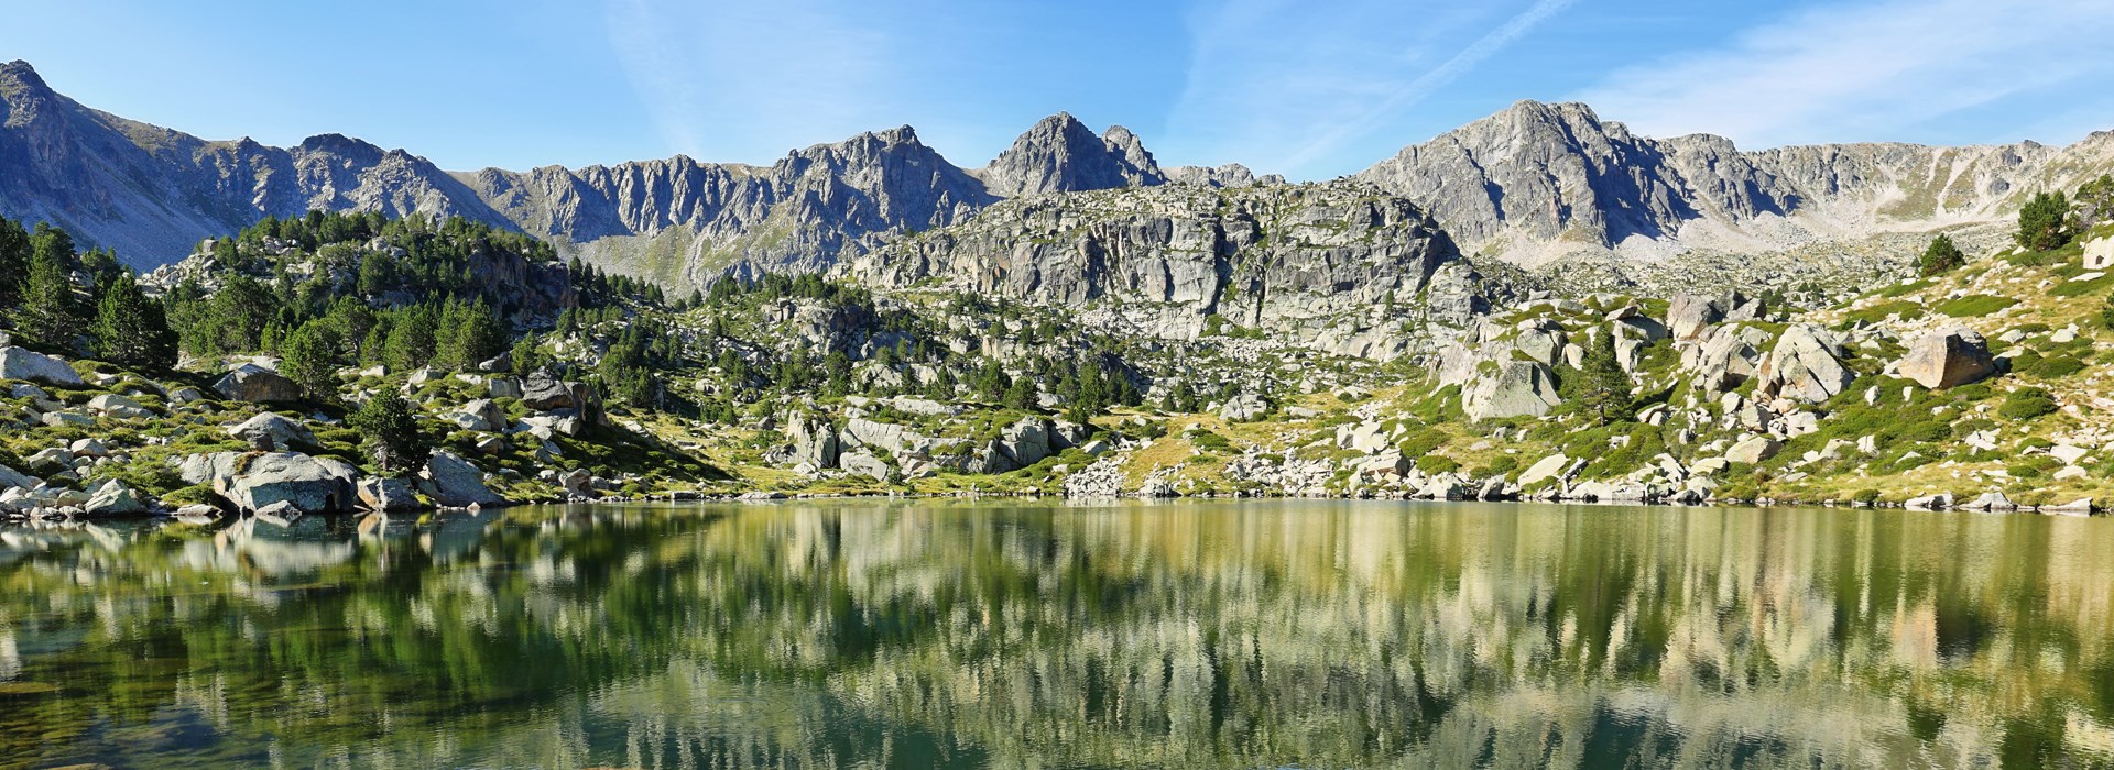
[(1780, 251), (2008, 217), (2036, 190), (2114, 169), (2114, 133), (2070, 148), (1829, 143), (1742, 152), (1651, 139), (1581, 103), (1520, 101), (1357, 177), (1423, 203), (1509, 262), (1619, 251)]

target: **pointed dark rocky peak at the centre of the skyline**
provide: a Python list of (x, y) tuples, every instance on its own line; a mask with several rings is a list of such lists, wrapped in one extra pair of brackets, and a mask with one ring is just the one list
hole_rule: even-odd
[(1038, 120), (983, 169), (996, 196), (1165, 184), (1167, 175), (1125, 127), (1095, 135), (1070, 112)]

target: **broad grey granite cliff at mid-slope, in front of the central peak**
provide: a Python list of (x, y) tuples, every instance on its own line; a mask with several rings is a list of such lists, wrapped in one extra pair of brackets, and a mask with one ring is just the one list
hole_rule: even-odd
[(1097, 325), (1194, 340), (1211, 316), (1321, 350), (1391, 359), (1480, 308), (1478, 278), (1408, 198), (1336, 181), (1044, 194), (888, 238), (839, 272), (1089, 308)]

